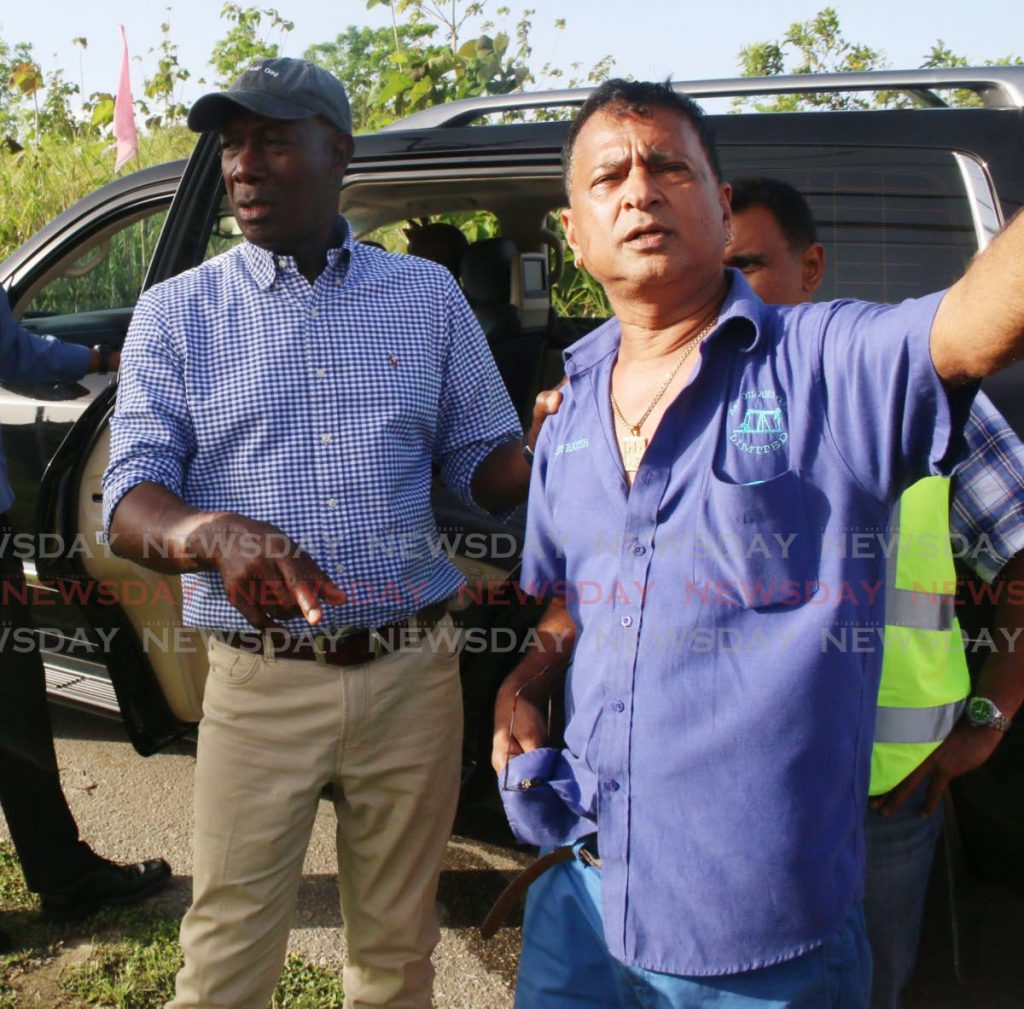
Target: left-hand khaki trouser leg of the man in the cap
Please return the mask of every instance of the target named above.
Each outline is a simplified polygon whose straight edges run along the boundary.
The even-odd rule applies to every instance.
[[[337,747],[336,673],[211,647],[193,905],[181,923],[174,1009],[265,1009],[270,1001]]]

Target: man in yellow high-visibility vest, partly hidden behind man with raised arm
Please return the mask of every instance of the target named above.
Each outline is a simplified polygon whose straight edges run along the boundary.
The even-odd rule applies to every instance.
[[[824,274],[824,249],[804,197],[778,179],[734,179],[725,264],[769,304],[810,301]],[[983,393],[964,434],[969,454],[956,475],[919,481],[895,513],[899,545],[886,585],[864,819],[871,1009],[897,1009],[913,972],[945,787],[988,759],[1024,700],[1024,655],[1007,645],[1024,626],[1024,605],[1009,591],[1024,579],[1024,445]],[[974,574],[994,583],[998,600],[991,631],[1001,647],[988,658],[970,705],[952,605],[956,575],[944,546],[950,537]]]

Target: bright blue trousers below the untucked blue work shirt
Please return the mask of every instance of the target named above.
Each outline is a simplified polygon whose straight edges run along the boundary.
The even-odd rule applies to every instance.
[[[681,977],[620,963],[601,925],[601,873],[561,863],[529,888],[515,1009],[865,1009],[871,957],[857,906],[816,950],[741,974]]]

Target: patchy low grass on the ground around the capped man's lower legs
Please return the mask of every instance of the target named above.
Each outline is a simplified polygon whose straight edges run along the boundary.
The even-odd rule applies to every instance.
[[[181,966],[177,919],[143,906],[111,909],[84,922],[43,921],[13,850],[3,843],[0,921],[19,945],[0,956],[0,1009],[161,1009],[174,994]],[[293,954],[271,1007],[330,1009],[342,1002],[335,971]]]

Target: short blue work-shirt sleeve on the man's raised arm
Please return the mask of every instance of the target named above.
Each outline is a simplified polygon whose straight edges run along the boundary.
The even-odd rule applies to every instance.
[[[966,451],[977,391],[947,388],[932,364],[942,294],[898,305],[833,302],[819,331],[828,432],[865,490],[898,497],[924,476],[949,476]]]

